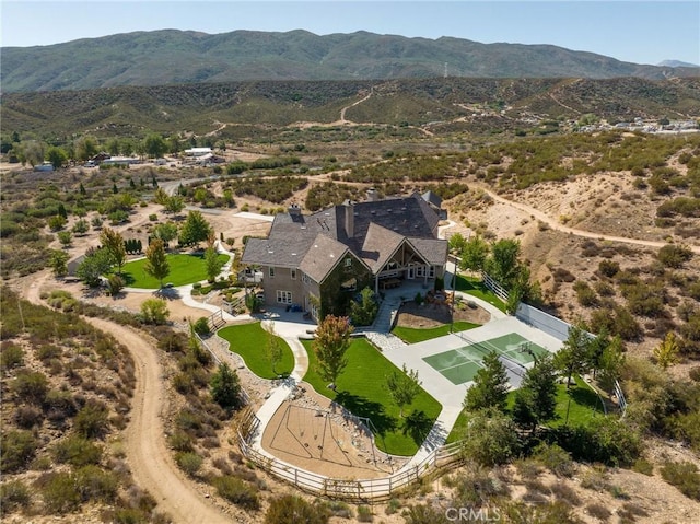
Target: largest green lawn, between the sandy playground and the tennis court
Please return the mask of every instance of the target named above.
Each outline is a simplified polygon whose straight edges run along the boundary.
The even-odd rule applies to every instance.
[[[319,394],[336,400],[350,412],[372,420],[376,446],[393,455],[416,454],[442,410],[438,400],[421,389],[410,406],[398,407],[392,401],[386,376],[399,371],[364,338],[355,338],[348,348],[348,365],[338,377],[336,391],[316,373],[316,356],[311,340],[303,340],[308,353],[308,372],[304,381]],[[420,380],[420,376],[419,376]]]

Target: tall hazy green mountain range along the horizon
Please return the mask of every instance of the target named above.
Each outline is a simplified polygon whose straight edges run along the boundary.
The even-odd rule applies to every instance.
[[[162,30],[0,53],[4,93],[250,80],[700,77],[698,67],[631,63],[552,45],[363,31],[318,36],[301,30],[215,35]]]

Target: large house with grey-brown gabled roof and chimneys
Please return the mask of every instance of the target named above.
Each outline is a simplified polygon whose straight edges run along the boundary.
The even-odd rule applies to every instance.
[[[264,275],[265,303],[308,312],[316,321],[348,313],[365,287],[375,292],[442,278],[447,243],[438,238],[444,218],[432,193],[346,202],[313,214],[298,206],[277,214],[267,238],[249,238],[242,263]]]

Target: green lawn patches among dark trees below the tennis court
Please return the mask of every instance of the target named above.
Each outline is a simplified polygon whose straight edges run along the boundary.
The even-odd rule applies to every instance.
[[[574,376],[576,384],[571,384],[571,388],[567,391],[565,384],[557,385],[557,418],[551,420],[547,426],[558,428],[567,423],[567,409],[569,410],[569,426],[585,426],[594,417],[604,415],[603,403],[598,395],[588,387],[580,376]],[[569,400],[571,399],[571,403]],[[515,403],[515,392],[508,395],[508,407],[511,409]],[[453,427],[447,443],[458,441],[464,433],[464,428],[468,421],[466,411],[462,411],[455,426]]]

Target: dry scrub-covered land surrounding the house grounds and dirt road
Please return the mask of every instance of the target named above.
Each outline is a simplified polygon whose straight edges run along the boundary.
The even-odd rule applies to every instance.
[[[317,128],[305,132],[325,136]],[[628,420],[646,443],[642,456],[622,469],[576,463],[563,450],[544,447],[508,466],[467,463],[385,504],[298,498],[236,451],[234,415],[210,395],[217,368],[186,330],[172,324],[150,328],[150,335],[164,359],[168,445],[192,490],[242,522],[282,523],[280,515],[295,509],[318,515],[317,522],[440,523],[446,509],[459,505],[498,511],[506,515],[504,522],[689,522],[700,513],[700,475],[693,469],[700,464],[697,136],[575,135],[483,148],[463,143],[457,151],[431,147],[425,154],[401,142],[353,144],[354,151],[340,139],[326,145],[293,138],[275,147],[256,143],[247,148],[247,160],[231,154],[223,166],[187,171],[72,168],[40,176],[3,171],[2,276],[13,282],[36,273],[49,266],[50,249],[80,255],[96,244],[103,224],[147,241],[159,224],[179,223],[177,213],[151,201],[154,181],[160,187],[172,181],[186,205],[223,211],[209,217],[217,234],[234,247],[246,235],[265,234],[267,225],[242,229],[228,221],[229,213],[269,214],[292,202],[313,210],[360,199],[371,186],[382,196],[430,189],[450,209],[455,225],[448,231],[521,242],[545,307],[626,340],[631,364],[625,386],[635,406]],[[254,164],[260,155],[275,160]],[[180,187],[179,179],[196,182]],[[49,223],[61,212],[65,223]],[[57,234],[72,231],[81,219],[89,231],[74,231],[72,244],[61,247]],[[148,493],[129,488],[119,446],[133,364],[117,342],[95,335],[74,315],[106,313],[89,313],[60,293],[48,296],[50,312],[27,302],[19,308],[7,290],[3,301],[3,511],[18,522],[63,513],[66,521],[75,515],[104,522],[164,520],[153,513],[156,504]],[[110,315],[114,322],[139,325],[128,313]],[[663,373],[650,356],[668,331],[678,335],[680,363]],[[241,380],[244,387],[253,384],[243,373]]]

